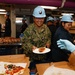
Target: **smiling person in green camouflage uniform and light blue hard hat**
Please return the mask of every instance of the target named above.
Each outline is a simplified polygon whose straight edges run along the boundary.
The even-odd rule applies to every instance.
[[[47,25],[44,24],[46,17],[45,10],[37,6],[33,11],[34,23],[29,25],[24,31],[22,39],[24,53],[30,57],[31,62],[46,62],[46,54],[35,54],[33,50],[40,47],[50,48],[51,44],[51,32]]]

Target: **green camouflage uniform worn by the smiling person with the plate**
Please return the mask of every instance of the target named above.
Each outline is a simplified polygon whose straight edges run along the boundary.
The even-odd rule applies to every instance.
[[[31,60],[44,60],[46,59],[46,54],[34,54],[32,52],[32,46],[39,48],[44,47],[46,43],[51,44],[51,32],[45,24],[40,29],[37,29],[37,26],[33,23],[24,31],[22,42],[24,53]]]

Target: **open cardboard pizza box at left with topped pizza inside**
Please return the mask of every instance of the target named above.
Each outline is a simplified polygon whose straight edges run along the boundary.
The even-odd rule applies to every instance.
[[[26,57],[25,54],[0,56],[0,75],[29,75],[29,63],[29,57]],[[11,72],[10,68],[12,65],[11,71],[14,73],[4,73],[4,71],[8,73],[8,69]]]

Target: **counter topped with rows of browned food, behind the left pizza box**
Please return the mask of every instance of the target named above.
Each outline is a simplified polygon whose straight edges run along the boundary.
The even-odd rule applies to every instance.
[[[4,37],[0,38],[0,55],[21,54],[20,38]],[[8,52],[8,53],[7,53]]]

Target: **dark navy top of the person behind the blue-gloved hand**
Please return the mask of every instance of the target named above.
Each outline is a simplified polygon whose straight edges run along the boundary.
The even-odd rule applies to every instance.
[[[54,35],[54,40],[52,45],[52,59],[55,62],[68,61],[70,52],[68,50],[62,50],[58,48],[57,40],[59,39],[66,39],[73,42],[72,35],[67,30],[65,30],[63,26],[60,26]]]

